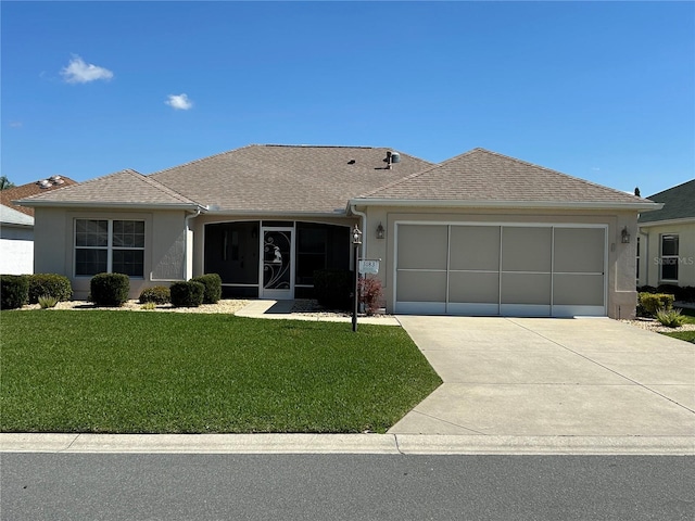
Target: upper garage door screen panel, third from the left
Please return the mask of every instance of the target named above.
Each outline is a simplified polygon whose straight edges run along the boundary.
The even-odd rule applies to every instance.
[[[548,227],[503,227],[502,270],[549,272],[552,240]]]

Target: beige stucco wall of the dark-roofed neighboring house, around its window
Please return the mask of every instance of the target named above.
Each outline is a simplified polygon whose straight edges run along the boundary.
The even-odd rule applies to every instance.
[[[659,285],[660,279],[660,243],[661,236],[677,233],[679,236],[678,285],[695,285],[695,219],[666,224],[645,224],[640,227],[640,285]]]

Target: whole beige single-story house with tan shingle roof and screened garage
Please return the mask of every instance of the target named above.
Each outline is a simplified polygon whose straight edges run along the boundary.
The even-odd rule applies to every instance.
[[[629,317],[637,213],[659,204],[475,149],[440,165],[383,148],[249,145],[21,201],[36,269],[150,285],[217,272],[225,295],[312,295],[313,272],[380,259],[389,313]],[[627,236],[626,236],[627,233]],[[623,240],[623,237],[628,240]]]

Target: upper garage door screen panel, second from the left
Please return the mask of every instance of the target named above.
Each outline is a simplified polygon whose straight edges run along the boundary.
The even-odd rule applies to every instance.
[[[500,269],[500,227],[453,226],[450,269]]]

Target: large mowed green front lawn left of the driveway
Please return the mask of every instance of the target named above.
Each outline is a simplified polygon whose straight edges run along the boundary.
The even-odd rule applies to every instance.
[[[397,327],[0,314],[3,432],[386,432],[441,380]]]

